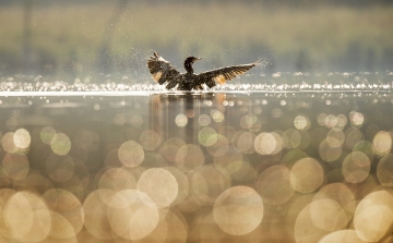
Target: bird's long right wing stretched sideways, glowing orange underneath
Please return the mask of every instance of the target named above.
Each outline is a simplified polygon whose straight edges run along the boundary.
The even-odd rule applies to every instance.
[[[206,84],[210,88],[212,88],[216,84],[225,84],[227,81],[230,81],[238,75],[245,74],[247,71],[259,64],[261,63],[257,61],[250,64],[233,65],[203,72],[198,74],[196,83]]]

